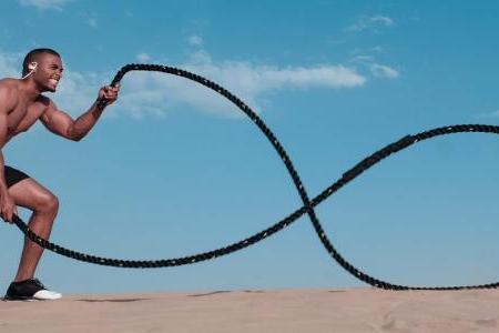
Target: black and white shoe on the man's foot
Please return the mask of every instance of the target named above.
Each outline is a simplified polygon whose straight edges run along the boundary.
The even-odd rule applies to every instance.
[[[7,290],[6,301],[58,300],[62,295],[47,290],[38,279],[12,282]]]

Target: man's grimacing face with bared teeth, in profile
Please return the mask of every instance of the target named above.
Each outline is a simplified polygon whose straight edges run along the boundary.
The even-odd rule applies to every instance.
[[[62,60],[61,58],[42,53],[37,57],[37,69],[33,73],[34,82],[41,88],[41,91],[55,92],[59,80],[62,78]]]

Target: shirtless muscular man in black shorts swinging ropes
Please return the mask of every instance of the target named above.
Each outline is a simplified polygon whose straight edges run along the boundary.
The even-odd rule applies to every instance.
[[[54,134],[80,141],[99,120],[103,108],[99,101],[109,105],[118,98],[119,87],[103,87],[99,90],[96,101],[77,120],[60,111],[42,93],[55,92],[62,78],[61,57],[51,49],[30,51],[22,64],[22,79],[0,80],[0,216],[12,223],[17,205],[33,213],[29,228],[43,239],[49,239],[52,224],[58,213],[59,202],[54,194],[43,188],[26,173],[4,165],[1,149],[10,139],[26,132],[37,120]],[[24,240],[19,269],[10,284],[6,300],[54,300],[60,293],[47,290],[34,279],[34,271],[43,249]]]

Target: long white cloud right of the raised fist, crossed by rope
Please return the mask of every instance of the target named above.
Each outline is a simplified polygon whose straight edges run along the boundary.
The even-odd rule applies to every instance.
[[[203,50],[179,67],[220,83],[255,110],[261,109],[265,94],[271,91],[355,88],[366,82],[361,74],[343,65],[278,68],[235,61],[215,63]],[[125,78],[122,92],[121,101],[134,117],[163,114],[174,104],[186,104],[224,117],[241,114],[236,107],[210,89],[161,73],[132,73],[130,80]]]

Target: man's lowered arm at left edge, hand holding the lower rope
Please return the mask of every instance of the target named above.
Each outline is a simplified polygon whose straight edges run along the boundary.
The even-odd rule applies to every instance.
[[[12,214],[17,214],[18,210],[7,189],[2,149],[7,143],[7,115],[13,104],[10,90],[0,85],[0,216],[9,222],[12,221]]]

